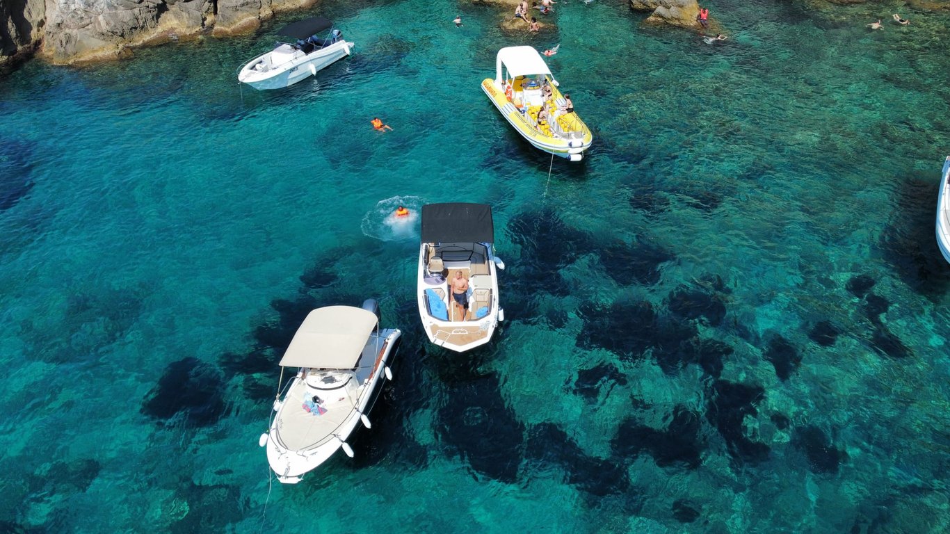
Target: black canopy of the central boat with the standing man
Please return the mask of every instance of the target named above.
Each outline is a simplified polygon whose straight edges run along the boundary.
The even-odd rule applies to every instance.
[[[424,243],[495,241],[495,225],[491,206],[449,202],[422,207],[422,241]]]

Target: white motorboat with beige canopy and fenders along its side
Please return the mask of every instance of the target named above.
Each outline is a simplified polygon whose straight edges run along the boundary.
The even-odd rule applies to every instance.
[[[284,368],[299,368],[274,402],[270,429],[260,436],[267,460],[284,484],[300,482],[304,473],[319,467],[343,448],[363,425],[386,380],[398,329],[379,328],[379,307],[367,299],[362,308],[317,308],[304,319],[280,360]]]

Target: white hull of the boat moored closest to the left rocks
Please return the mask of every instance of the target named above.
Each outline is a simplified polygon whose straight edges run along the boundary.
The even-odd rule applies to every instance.
[[[329,67],[336,61],[343,59],[352,52],[352,43],[339,41],[325,48],[320,48],[309,54],[299,53],[298,56],[269,67],[267,70],[257,70],[258,65],[271,65],[270,60],[275,57],[272,50],[261,54],[241,67],[237,80],[257,90],[280,89],[293,86],[297,82],[313,76],[323,68]]]

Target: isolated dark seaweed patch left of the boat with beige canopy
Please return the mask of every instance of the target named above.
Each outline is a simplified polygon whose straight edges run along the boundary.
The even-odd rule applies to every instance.
[[[183,413],[188,422],[204,427],[218,421],[224,412],[220,374],[194,357],[172,362],[158,385],[148,392],[142,413],[156,419],[170,419]]]

